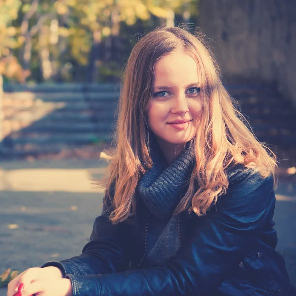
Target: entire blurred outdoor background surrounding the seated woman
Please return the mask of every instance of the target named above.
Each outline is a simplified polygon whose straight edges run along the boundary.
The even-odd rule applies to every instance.
[[[81,252],[101,213],[94,180],[131,49],[183,25],[205,34],[225,87],[278,156],[277,250],[296,286],[295,11],[295,0],[0,0],[0,273]]]

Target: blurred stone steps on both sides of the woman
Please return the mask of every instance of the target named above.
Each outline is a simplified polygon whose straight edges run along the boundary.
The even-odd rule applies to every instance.
[[[296,147],[296,110],[273,85],[227,86],[257,138],[277,152]],[[2,157],[54,154],[111,141],[120,85],[4,88]],[[281,152],[280,152],[281,153]]]

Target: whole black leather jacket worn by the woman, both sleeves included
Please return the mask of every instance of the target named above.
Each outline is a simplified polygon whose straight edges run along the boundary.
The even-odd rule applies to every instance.
[[[74,296],[296,296],[275,251],[274,208],[272,176],[232,169],[209,214],[181,213],[182,247],[165,264],[145,263],[145,207],[137,223],[112,225],[105,206],[80,256],[42,267],[59,267]]]

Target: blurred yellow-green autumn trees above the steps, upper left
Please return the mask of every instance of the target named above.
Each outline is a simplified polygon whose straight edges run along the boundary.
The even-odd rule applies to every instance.
[[[185,10],[197,15],[197,0],[0,0],[0,73],[16,81],[86,81],[91,71],[94,81],[118,79],[131,32],[172,12],[182,19]]]

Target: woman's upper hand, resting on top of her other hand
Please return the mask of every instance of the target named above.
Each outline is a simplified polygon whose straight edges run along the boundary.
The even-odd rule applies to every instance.
[[[7,296],[13,296],[15,293],[18,292],[18,287],[21,283],[24,284],[23,291],[26,293],[26,291],[29,289],[29,286],[36,282],[57,282],[57,280],[62,279],[62,272],[59,268],[48,266],[44,268],[34,267],[29,268],[19,274],[16,278],[14,278],[9,284],[8,284],[8,291]],[[66,279],[65,279],[66,280]],[[67,281],[63,281],[62,283],[65,283]],[[40,284],[40,283],[39,283]],[[46,285],[46,283],[44,283]],[[42,290],[42,289],[41,289]],[[24,293],[22,293],[24,296]],[[28,294],[30,295],[30,294]]]

